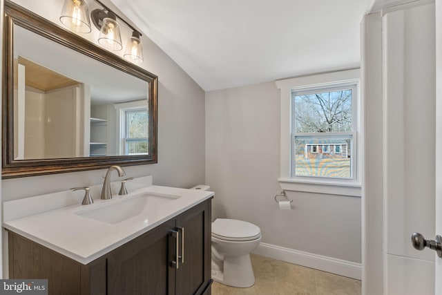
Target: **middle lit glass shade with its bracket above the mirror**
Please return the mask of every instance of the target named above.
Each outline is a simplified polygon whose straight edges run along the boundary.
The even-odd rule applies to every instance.
[[[122,35],[119,32],[117,15],[111,10],[95,9],[92,14],[92,22],[99,29],[98,43],[110,50],[122,50]]]

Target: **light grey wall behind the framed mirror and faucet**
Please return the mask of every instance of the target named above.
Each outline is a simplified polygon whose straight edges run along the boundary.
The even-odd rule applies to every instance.
[[[57,21],[63,1],[15,1]],[[60,23],[61,24],[61,23]],[[57,23],[58,25],[58,23]],[[143,68],[158,78],[158,163],[125,167],[126,175],[153,175],[154,184],[192,187],[204,183],[204,91],[145,35]],[[2,180],[3,201],[99,184],[104,170]],[[115,175],[113,176],[115,178]],[[3,249],[5,245],[3,245]],[[3,267],[6,265],[3,263]]]

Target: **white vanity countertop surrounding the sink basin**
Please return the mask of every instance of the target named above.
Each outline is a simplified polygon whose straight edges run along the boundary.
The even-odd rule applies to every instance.
[[[140,196],[141,193],[179,198],[155,207],[155,210],[146,207],[137,216],[116,224],[75,214],[78,211],[107,206],[110,202],[123,202]],[[5,218],[3,227],[86,265],[212,196],[211,191],[151,185],[133,189],[126,196],[113,196],[111,200],[94,200],[94,204],[90,205],[81,205],[79,202],[12,220]],[[4,202],[3,210],[6,210],[5,207],[12,210],[14,206],[17,208],[21,204],[26,204],[26,199]],[[28,202],[28,206],[32,204]]]

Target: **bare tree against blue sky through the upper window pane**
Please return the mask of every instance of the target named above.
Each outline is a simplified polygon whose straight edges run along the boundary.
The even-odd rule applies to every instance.
[[[352,89],[296,95],[295,132],[352,131]]]

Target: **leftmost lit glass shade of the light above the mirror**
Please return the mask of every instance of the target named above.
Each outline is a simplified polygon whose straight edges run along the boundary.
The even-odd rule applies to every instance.
[[[73,32],[90,32],[89,10],[86,1],[65,0],[60,21]]]

